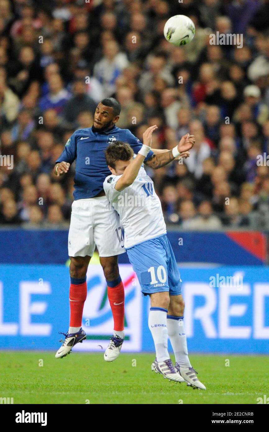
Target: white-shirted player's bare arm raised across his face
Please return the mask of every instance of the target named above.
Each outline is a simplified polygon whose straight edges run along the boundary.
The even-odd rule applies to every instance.
[[[123,191],[125,187],[130,186],[136,179],[139,169],[141,168],[142,163],[144,162],[146,156],[149,153],[149,150],[151,149],[152,145],[152,132],[157,129],[156,124],[154,126],[149,127],[144,133],[143,133],[143,145],[142,148],[137,153],[137,156],[135,159],[132,160],[132,162],[127,165],[125,168],[123,175],[119,178],[115,185],[116,191]]]

